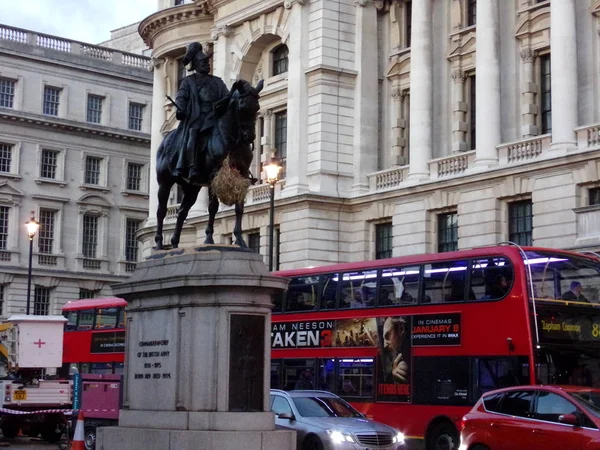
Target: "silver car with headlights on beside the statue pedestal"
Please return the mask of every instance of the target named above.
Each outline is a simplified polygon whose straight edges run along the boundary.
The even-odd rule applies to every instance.
[[[271,389],[278,428],[296,430],[297,450],[403,450],[404,435],[367,419],[327,391]]]

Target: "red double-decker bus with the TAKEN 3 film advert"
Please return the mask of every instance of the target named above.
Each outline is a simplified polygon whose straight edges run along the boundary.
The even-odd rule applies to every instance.
[[[278,272],[271,387],[325,389],[428,450],[482,393],[600,385],[600,259],[506,244]],[[413,446],[411,445],[411,447]]]

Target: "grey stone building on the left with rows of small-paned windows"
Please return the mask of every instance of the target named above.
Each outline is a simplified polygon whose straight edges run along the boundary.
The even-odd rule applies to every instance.
[[[60,314],[135,268],[148,216],[149,58],[0,25],[0,316]]]

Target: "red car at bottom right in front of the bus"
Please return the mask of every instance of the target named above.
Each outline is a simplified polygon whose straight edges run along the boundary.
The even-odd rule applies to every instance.
[[[463,417],[459,450],[523,449],[600,449],[600,389],[498,389]]]

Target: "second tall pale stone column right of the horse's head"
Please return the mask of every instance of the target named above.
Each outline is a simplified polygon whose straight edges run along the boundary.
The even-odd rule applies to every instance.
[[[377,171],[378,148],[378,62],[377,9],[371,1],[355,0],[356,89],[354,96],[354,181],[355,191],[369,190],[367,175]]]

